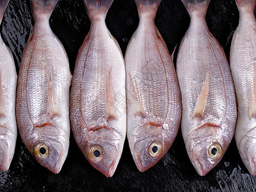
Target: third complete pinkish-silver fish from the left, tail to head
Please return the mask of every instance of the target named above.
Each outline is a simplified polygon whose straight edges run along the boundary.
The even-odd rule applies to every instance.
[[[125,53],[127,138],[138,170],[154,166],[171,147],[181,118],[172,58],[154,19],[161,0],[135,0],[138,29]]]

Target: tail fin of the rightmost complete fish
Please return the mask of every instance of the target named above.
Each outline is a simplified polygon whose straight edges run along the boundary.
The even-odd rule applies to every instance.
[[[189,15],[194,11],[202,12],[202,15],[206,15],[208,5],[211,0],[181,0]]]

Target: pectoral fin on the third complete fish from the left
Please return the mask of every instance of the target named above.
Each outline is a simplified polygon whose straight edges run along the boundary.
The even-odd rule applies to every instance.
[[[141,117],[145,117],[144,116],[144,109],[143,109],[143,102],[142,102],[142,98],[141,98],[141,94],[138,90],[138,84],[136,82],[136,79],[134,78],[134,81],[132,79],[131,74],[128,72],[128,76],[130,78],[130,84],[131,84],[131,94],[132,94],[132,110],[133,110],[133,114],[134,116],[141,116]]]

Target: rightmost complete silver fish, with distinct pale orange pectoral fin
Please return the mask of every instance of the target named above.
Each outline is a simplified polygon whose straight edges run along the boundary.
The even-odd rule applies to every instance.
[[[209,0],[182,0],[191,22],[177,56],[182,136],[199,175],[225,154],[236,126],[236,96],[227,58],[205,15]]]

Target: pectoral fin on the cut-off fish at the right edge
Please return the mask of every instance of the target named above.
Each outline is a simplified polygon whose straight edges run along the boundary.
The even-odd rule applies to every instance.
[[[250,100],[249,100],[249,118],[256,117],[256,67],[253,65],[253,91],[249,84]]]

